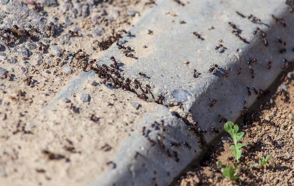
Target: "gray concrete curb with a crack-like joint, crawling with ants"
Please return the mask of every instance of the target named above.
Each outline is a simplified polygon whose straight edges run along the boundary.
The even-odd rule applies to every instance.
[[[260,24],[254,24],[248,18],[238,16],[235,11],[245,15],[254,14],[262,20]],[[171,16],[172,12],[176,16]],[[272,14],[283,17],[287,23],[284,27],[276,23]],[[171,21],[173,20],[173,21]],[[181,24],[185,21],[185,24]],[[247,43],[240,40],[232,33],[228,22],[237,25],[241,36],[246,38]],[[214,29],[208,30],[208,28]],[[268,46],[263,44],[262,36],[253,35],[253,30],[259,27],[267,36]],[[147,30],[153,31],[147,34]],[[217,115],[220,113],[230,121],[235,121],[243,110],[243,100],[247,100],[248,107],[252,105],[258,95],[251,91],[248,95],[247,86],[257,90],[266,89],[283,71],[281,69],[283,59],[292,60],[294,52],[293,15],[283,1],[191,1],[185,6],[176,4],[174,1],[159,0],[157,6],[142,16],[130,31],[136,37],[127,37],[128,42],[134,48],[133,54],[136,59],[127,58],[118,53],[116,45],[111,46],[99,60],[101,63],[111,64],[106,56],[114,56],[121,60],[123,72],[127,77],[140,78],[139,72],[147,74],[148,84],[152,88],[154,97],[164,95],[166,103],[170,104],[170,110],[159,106],[158,110],[147,113],[142,122],[131,133],[127,140],[121,141],[120,148],[116,151],[116,169],[109,169],[103,175],[97,175],[97,181],[91,185],[151,185],[156,181],[158,185],[168,185],[178,173],[183,170],[193,159],[197,159],[202,152],[197,137],[187,130],[186,124],[179,120],[171,110],[177,110],[174,102],[176,93],[186,94],[183,104],[186,110],[191,109],[191,115],[198,121],[200,129],[209,129],[219,126]],[[203,40],[198,39],[193,32],[197,31]],[[287,42],[281,45],[276,38]],[[220,43],[226,47],[224,52],[216,51],[215,47]],[[146,45],[144,48],[142,45]],[[283,54],[279,50],[285,48]],[[135,53],[136,52],[136,53]],[[257,59],[251,67],[254,69],[255,78],[251,78],[248,58]],[[183,64],[188,60],[188,64]],[[267,68],[271,61],[271,68]],[[216,73],[206,73],[209,66],[218,64],[221,66]],[[238,75],[238,68],[242,68]],[[193,69],[199,74],[193,77]],[[224,79],[225,72],[228,77]],[[54,107],[57,100],[69,96],[68,90],[74,87],[78,91],[79,82],[85,81],[86,73],[79,74],[57,97],[49,103],[46,109]],[[98,79],[98,77],[96,77]],[[98,81],[97,81],[98,82]],[[141,81],[142,84],[147,83]],[[178,91],[175,91],[178,90]],[[141,94],[140,91],[138,93]],[[216,99],[215,106],[210,107],[210,99]],[[184,116],[185,113],[181,113]],[[151,127],[154,121],[164,119],[166,131],[155,130]],[[142,127],[146,126],[148,134],[142,135]],[[158,137],[158,132],[164,136]],[[155,141],[161,138],[162,143],[168,146],[171,142],[187,141],[191,150],[183,144],[181,147],[170,147],[171,156],[158,142],[151,146],[146,136]],[[216,137],[216,136],[214,136]],[[213,135],[204,135],[206,143],[213,140]],[[205,149],[205,147],[203,148]],[[179,161],[173,151],[177,152]],[[139,154],[134,158],[134,154]],[[98,155],[97,155],[98,156]]]

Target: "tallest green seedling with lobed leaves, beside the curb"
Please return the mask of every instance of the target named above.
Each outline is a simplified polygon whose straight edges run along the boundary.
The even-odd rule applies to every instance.
[[[225,131],[231,134],[235,144],[230,146],[229,149],[233,150],[233,155],[235,156],[236,160],[239,161],[239,158],[241,157],[241,154],[242,154],[242,151],[240,150],[240,148],[245,146],[245,144],[238,143],[238,141],[244,136],[244,132],[237,133],[239,130],[239,127],[238,125],[234,125],[233,122],[226,122],[224,128],[225,128]]]

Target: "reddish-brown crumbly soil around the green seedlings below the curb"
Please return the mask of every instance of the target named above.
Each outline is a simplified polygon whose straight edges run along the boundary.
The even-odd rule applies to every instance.
[[[221,161],[232,166],[234,162],[233,150],[229,149],[233,143],[228,141],[229,139],[218,138],[211,144],[211,149],[203,159],[192,163],[187,168],[187,172],[177,178],[172,185],[293,185],[293,73],[294,71],[288,74],[291,79],[283,78],[283,74],[281,76],[283,80],[278,79],[273,83],[270,92],[248,110],[250,116],[252,113],[255,114],[252,124],[244,124],[246,121],[243,121],[243,117],[237,122],[239,132],[245,132],[240,141],[246,144],[241,148],[242,168],[238,180],[230,181],[228,178],[223,178],[222,169],[214,164]],[[279,95],[281,88],[283,92]],[[254,96],[253,91],[252,93]],[[220,127],[223,127],[223,124],[219,125]],[[214,134],[208,132],[208,135]],[[225,132],[223,136],[230,137],[230,134]],[[249,165],[258,163],[258,158],[269,154],[271,157],[266,165],[243,170]]]

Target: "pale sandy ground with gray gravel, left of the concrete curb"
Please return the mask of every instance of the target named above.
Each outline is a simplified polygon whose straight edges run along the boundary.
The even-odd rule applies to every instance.
[[[104,41],[105,46],[112,29],[127,40],[121,30],[128,30],[154,6],[146,2],[0,4],[2,37],[7,38],[3,31],[15,24],[21,31],[15,41],[4,38],[0,43],[0,185],[86,185],[115,168],[112,149],[143,114],[156,108],[155,103],[126,90],[109,89],[93,72],[84,72],[89,73],[79,85],[84,92],[70,92],[70,98],[59,100],[52,109],[48,103],[82,72],[83,61],[103,54],[98,43]],[[79,49],[82,52],[76,55],[85,55],[86,60],[66,57]],[[62,50],[66,52],[59,57]],[[66,67],[71,70],[66,72]]]

